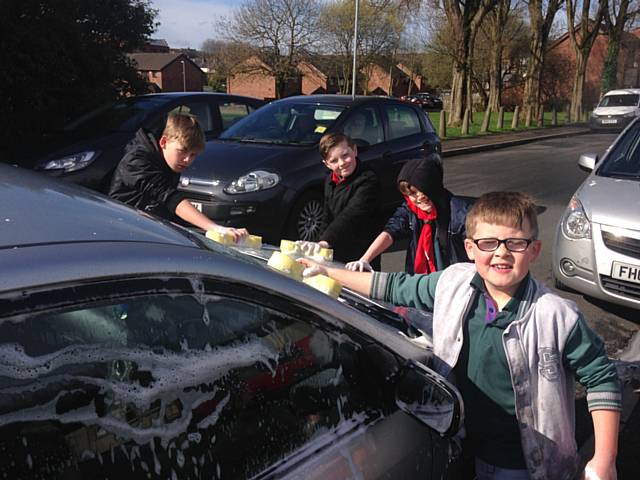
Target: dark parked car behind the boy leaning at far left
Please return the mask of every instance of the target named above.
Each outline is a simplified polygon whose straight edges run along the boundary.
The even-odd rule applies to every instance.
[[[126,98],[48,135],[30,163],[36,170],[106,193],[125,146],[139,128],[160,137],[167,115],[185,112],[197,116],[207,139],[212,139],[263,104],[256,98],[206,92]]]

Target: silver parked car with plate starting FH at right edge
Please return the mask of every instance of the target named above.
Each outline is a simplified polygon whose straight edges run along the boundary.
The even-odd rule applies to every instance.
[[[601,160],[586,154],[578,165],[591,174],[558,225],[556,286],[640,309],[640,120],[629,125]]]

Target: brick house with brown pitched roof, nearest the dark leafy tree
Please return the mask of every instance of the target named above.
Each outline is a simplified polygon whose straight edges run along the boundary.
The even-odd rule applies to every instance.
[[[204,72],[183,53],[131,53],[138,72],[158,92],[201,92]]]

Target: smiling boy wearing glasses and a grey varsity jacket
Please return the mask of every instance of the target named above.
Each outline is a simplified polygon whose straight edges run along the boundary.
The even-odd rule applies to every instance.
[[[455,376],[479,480],[575,477],[574,378],[587,390],[594,424],[595,453],[585,471],[615,479],[616,370],[577,306],[529,274],[541,249],[533,201],[517,192],[485,194],[469,211],[466,231],[474,263],[430,275],[300,261],[312,267],[308,274],[326,273],[373,298],[433,311],[432,366]]]

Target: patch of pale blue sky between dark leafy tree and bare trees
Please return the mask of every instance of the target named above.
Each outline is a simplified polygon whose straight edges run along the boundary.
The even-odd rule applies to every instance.
[[[163,38],[171,48],[196,48],[208,38],[219,38],[217,21],[230,16],[241,0],[152,0],[159,10],[160,26],[153,38]]]

